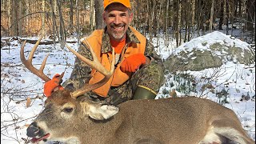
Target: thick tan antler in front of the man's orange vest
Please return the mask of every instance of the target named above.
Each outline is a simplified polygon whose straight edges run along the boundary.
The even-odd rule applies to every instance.
[[[85,39],[85,42],[86,42],[86,45],[90,49],[90,54],[93,57],[93,61],[90,61],[89,59],[83,57],[81,54],[78,54],[78,52],[73,50],[70,46],[66,45],[66,47],[74,55],[76,55],[82,62],[86,62],[86,64],[88,66],[90,66],[91,68],[93,68],[93,69],[97,70],[98,72],[100,72],[101,74],[103,74],[105,76],[105,78],[103,78],[101,81],[99,81],[97,83],[94,83],[92,85],[86,84],[81,89],[75,90],[74,92],[71,93],[72,98],[77,98],[79,95],[85,94],[87,91],[94,90],[100,86],[103,86],[110,79],[112,74],[114,73],[114,48],[112,50],[113,57],[112,57],[111,69],[110,69],[110,71],[108,71],[108,70],[106,70],[106,68],[104,66],[102,66],[101,62],[98,61],[98,58],[97,58],[96,54],[94,53],[94,50],[92,50],[92,47],[90,46],[89,42],[87,42],[86,39]]]

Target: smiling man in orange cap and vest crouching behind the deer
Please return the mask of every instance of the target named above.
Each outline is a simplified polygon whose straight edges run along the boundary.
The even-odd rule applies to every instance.
[[[130,99],[155,98],[163,82],[162,59],[154,46],[137,30],[130,26],[133,19],[129,0],[104,0],[104,30],[94,30],[88,38],[94,52],[103,66],[110,66],[112,47],[115,52],[114,76],[105,85],[86,93],[93,100],[102,100],[118,105]],[[78,53],[91,59],[84,39]],[[58,74],[46,82],[44,93],[50,96],[58,89],[77,90],[85,83],[93,84],[102,79],[102,74],[91,70],[76,58],[70,79],[62,86],[56,84]],[[58,82],[57,82],[58,83]]]

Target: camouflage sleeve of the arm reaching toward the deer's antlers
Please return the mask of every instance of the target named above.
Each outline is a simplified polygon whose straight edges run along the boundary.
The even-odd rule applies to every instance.
[[[92,59],[90,51],[86,48],[84,44],[80,44],[78,48],[78,53],[82,56]],[[78,90],[90,80],[90,66],[85,62],[82,62],[79,58],[75,58],[74,69],[70,75],[70,78],[63,82],[62,86],[67,90]]]

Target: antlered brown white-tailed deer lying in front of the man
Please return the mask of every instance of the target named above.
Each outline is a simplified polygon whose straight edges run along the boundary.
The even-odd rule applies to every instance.
[[[38,43],[41,38],[38,39]],[[21,49],[23,64],[38,77],[49,81],[43,67],[37,70],[31,61],[34,46],[28,60]],[[90,47],[90,46],[89,46]],[[70,47],[68,47],[70,49]],[[102,86],[114,71],[110,72],[98,62],[78,58],[106,77],[81,90],[57,90],[45,102],[45,110],[27,128],[32,142],[61,141],[82,144],[253,144],[234,112],[207,99],[165,98],[158,100],[130,100],[118,106],[103,105],[81,96],[89,90]],[[113,53],[114,55],[114,53]],[[114,59],[114,58],[113,58]],[[113,62],[114,63],[114,62]],[[80,96],[80,97],[79,97]],[[42,141],[43,140],[43,141]]]

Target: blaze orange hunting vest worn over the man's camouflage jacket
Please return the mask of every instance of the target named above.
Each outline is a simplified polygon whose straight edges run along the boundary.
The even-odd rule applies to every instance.
[[[134,43],[130,42],[128,43],[128,46],[126,44],[125,48],[125,53],[122,54],[122,61],[129,57],[130,55],[133,54],[144,54],[145,48],[146,48],[146,38],[140,34],[137,30],[132,28],[130,26],[130,30],[135,34],[135,36],[138,38],[140,43]],[[112,62],[112,53],[102,53],[102,34],[104,33],[104,30],[94,30],[92,34],[86,40],[90,43],[90,46],[93,48],[94,53],[96,54],[99,62],[102,63],[102,65],[106,68],[106,70],[110,70],[111,62]],[[82,41],[84,44],[86,42]],[[106,84],[103,86],[99,87],[98,89],[93,90],[95,94],[98,94],[102,97],[106,97],[109,90],[110,86],[121,86],[124,82],[126,82],[132,73],[123,73],[122,70],[120,69],[120,64],[122,63],[119,62],[118,66],[116,66],[114,70],[113,76],[109,79]],[[91,71],[91,77],[89,84],[94,84],[96,82],[99,82],[104,78],[102,74],[100,74],[96,70]]]

